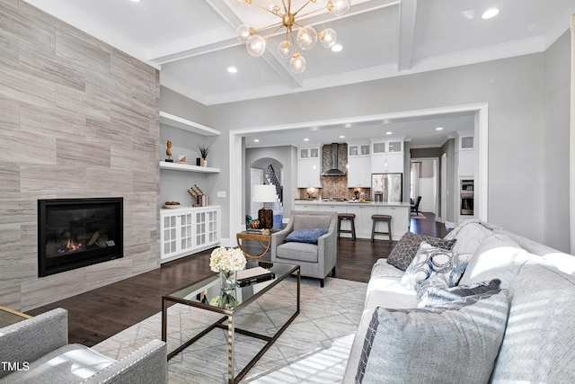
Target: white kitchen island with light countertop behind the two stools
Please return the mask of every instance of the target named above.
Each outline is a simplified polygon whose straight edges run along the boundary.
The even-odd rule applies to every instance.
[[[355,213],[356,237],[371,238],[371,215],[389,215],[392,217],[392,239],[399,240],[410,227],[411,204],[409,202],[375,202],[375,201],[319,201],[295,200],[293,210],[326,210],[338,213]],[[387,231],[385,223],[377,223],[377,231]],[[385,227],[379,227],[385,226]],[[341,229],[350,229],[348,220],[343,220]],[[341,237],[351,237],[341,234]],[[376,236],[376,239],[387,237]]]

